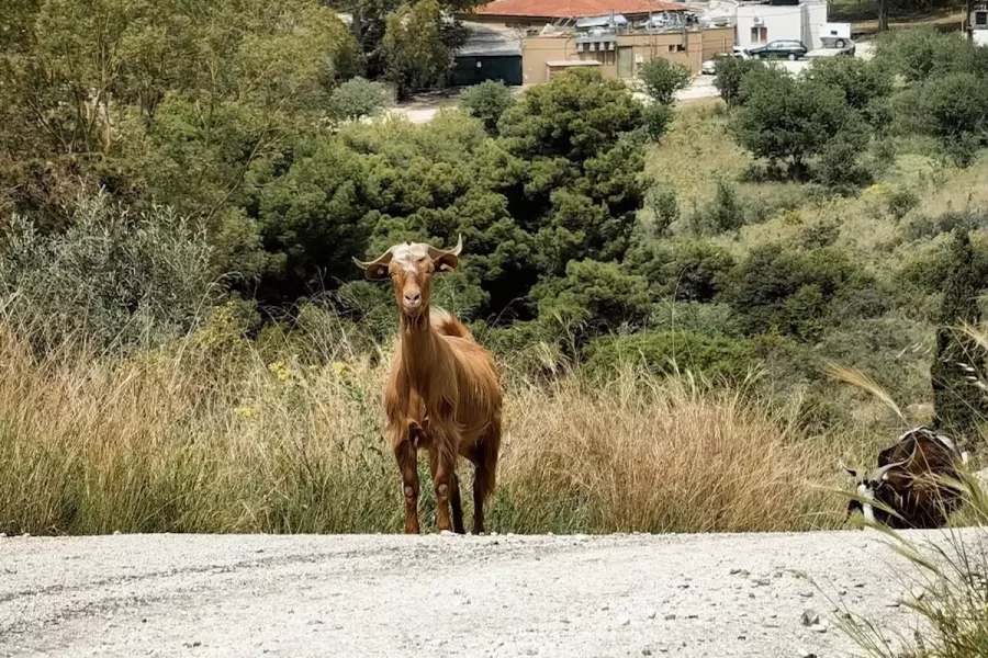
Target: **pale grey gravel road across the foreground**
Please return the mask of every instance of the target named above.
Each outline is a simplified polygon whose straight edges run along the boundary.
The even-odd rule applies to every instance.
[[[0,538],[0,656],[823,658],[854,649],[831,597],[914,625],[899,559],[874,531]]]

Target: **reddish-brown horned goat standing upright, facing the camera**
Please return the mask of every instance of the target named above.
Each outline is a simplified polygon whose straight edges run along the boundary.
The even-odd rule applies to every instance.
[[[463,248],[395,245],[370,262],[353,261],[372,281],[391,279],[401,333],[384,394],[385,433],[402,475],[405,532],[418,533],[418,449],[429,453],[439,531],[463,533],[457,457],[474,466],[473,532],[484,532],[501,450],[502,390],[490,352],[448,313],[430,311],[433,275],[453,271]]]

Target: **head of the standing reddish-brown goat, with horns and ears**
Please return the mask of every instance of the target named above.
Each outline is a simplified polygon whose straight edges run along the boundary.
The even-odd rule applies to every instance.
[[[353,262],[371,281],[391,279],[402,315],[415,319],[429,308],[433,275],[456,270],[462,249],[462,236],[456,247],[447,250],[425,242],[406,242],[393,246],[377,260],[363,262],[355,258]]]

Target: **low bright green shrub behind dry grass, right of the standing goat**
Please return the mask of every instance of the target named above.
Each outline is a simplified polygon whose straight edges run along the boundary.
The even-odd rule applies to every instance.
[[[756,366],[745,341],[692,331],[598,338],[587,345],[585,355],[585,371],[599,378],[635,364],[658,375],[691,371],[711,378],[740,381]]]

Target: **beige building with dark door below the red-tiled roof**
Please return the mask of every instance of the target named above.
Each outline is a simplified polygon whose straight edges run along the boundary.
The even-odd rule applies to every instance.
[[[568,68],[597,68],[605,78],[630,79],[641,67],[663,57],[698,72],[716,53],[730,53],[733,27],[595,36],[532,36],[521,43],[524,84],[547,82]]]

